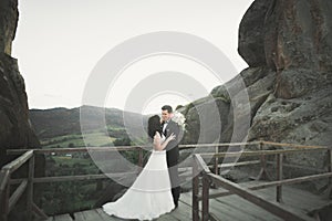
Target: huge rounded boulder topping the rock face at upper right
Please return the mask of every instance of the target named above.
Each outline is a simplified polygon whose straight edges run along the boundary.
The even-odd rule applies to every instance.
[[[256,0],[242,18],[239,54],[250,67],[331,71],[329,0]]]

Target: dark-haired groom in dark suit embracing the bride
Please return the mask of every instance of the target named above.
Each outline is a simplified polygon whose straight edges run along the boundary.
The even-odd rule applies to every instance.
[[[163,134],[167,138],[172,134],[176,135],[176,139],[168,143],[166,146],[166,159],[167,159],[167,167],[169,172],[169,179],[172,185],[172,196],[174,200],[175,208],[178,207],[178,198],[180,194],[180,187],[179,187],[179,177],[178,177],[178,135],[179,135],[179,126],[172,120],[173,109],[169,105],[164,105],[162,107],[162,129]]]

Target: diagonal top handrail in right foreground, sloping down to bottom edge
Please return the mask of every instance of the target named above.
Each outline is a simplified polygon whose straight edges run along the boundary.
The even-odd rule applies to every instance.
[[[248,191],[248,189],[245,189],[240,187],[237,183],[232,183],[231,181],[216,176],[214,173],[209,173],[214,182],[218,182],[221,187],[228,189],[229,191],[236,193],[237,196],[243,198],[245,200],[248,200],[249,202],[252,202],[257,204],[260,208],[263,208],[264,210],[271,212],[272,214],[276,214],[277,217],[284,219],[284,220],[293,220],[293,221],[303,221],[303,220],[310,220],[308,217],[300,217],[300,214],[294,214],[293,212],[289,211],[288,209],[283,208],[280,204],[277,204],[274,202],[269,202],[264,200],[260,196],[256,196]]]

